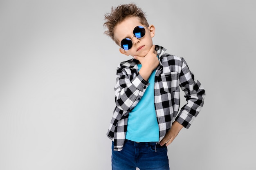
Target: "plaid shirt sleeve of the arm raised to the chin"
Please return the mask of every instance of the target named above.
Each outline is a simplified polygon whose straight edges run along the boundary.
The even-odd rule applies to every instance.
[[[149,83],[139,73],[132,73],[130,68],[122,68],[120,64],[117,68],[116,81],[116,106],[127,113],[137,105]]]

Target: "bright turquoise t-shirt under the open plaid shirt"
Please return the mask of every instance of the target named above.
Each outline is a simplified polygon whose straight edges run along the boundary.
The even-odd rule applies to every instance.
[[[141,68],[141,64],[138,64],[138,68]],[[150,84],[144,95],[129,113],[126,139],[131,141],[159,141],[159,127],[154,102],[155,70],[151,73],[148,82]]]

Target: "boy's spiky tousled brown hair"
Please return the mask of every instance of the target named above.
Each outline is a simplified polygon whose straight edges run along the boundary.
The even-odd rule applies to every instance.
[[[118,44],[117,40],[114,38],[115,27],[117,24],[130,17],[137,17],[139,18],[141,24],[148,26],[145,13],[140,8],[138,8],[136,4],[122,4],[117,7],[112,7],[111,13],[105,14],[106,22],[103,24],[103,26],[107,27],[108,30],[104,33],[110,36],[110,38]]]

